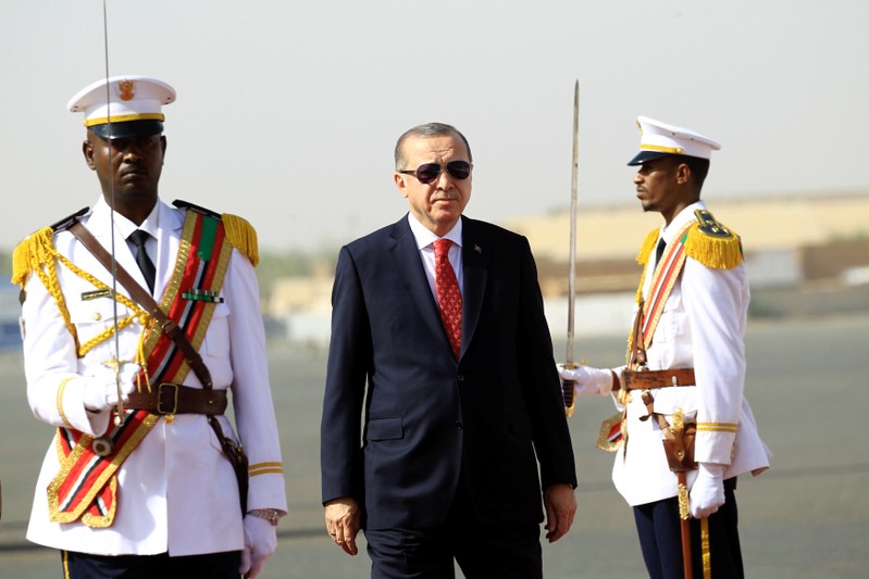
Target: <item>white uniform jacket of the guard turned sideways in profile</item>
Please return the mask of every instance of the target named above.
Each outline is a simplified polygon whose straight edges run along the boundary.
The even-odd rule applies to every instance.
[[[685,207],[661,229],[668,246],[691,221],[703,202]],[[649,257],[644,298],[648,298],[655,256]],[[696,386],[659,388],[655,412],[668,421],[682,408],[696,417],[697,462],[728,465],[724,478],[744,473],[759,474],[769,467],[771,454],[760,440],[752,408],[743,397],[745,386],[745,325],[749,290],[745,264],[718,269],[687,257],[665,305],[651,345],[646,352],[648,369],[694,368]],[[661,442],[661,430],[647,414],[640,392],[628,393],[628,439],[616,456],[612,480],[632,506],[676,495],[676,476],[671,473]],[[621,406],[617,402],[617,406]],[[688,473],[688,487],[697,471]]]

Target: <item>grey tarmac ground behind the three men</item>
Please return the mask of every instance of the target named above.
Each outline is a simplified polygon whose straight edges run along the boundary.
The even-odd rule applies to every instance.
[[[868,339],[869,313],[749,325],[746,394],[775,456],[766,474],[740,479],[748,577],[867,577],[869,452],[859,441],[869,385],[859,364],[869,360]],[[624,349],[623,337],[604,337],[578,340],[575,351],[589,364],[614,366]],[[561,353],[563,345],[557,344],[556,355]],[[368,577],[364,552],[345,555],[323,526],[319,432],[325,353],[272,343],[270,358],[289,516],[278,527],[277,553],[260,577]],[[607,398],[583,398],[570,418],[580,507],[571,532],[544,543],[547,578],[646,576],[633,517],[609,479],[612,455],[594,448],[600,420],[612,413]],[[24,538],[52,431],[27,406],[18,352],[0,354],[0,577],[61,577],[58,553]]]

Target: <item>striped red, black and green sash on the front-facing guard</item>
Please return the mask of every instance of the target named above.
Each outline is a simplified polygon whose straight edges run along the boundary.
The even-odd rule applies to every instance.
[[[183,329],[196,350],[221,301],[219,295],[232,250],[219,218],[187,211],[175,270],[160,307]],[[182,383],[190,369],[184,354],[159,327],[145,331],[142,349],[148,372],[140,374],[141,388],[151,385],[156,388],[161,382]],[[148,411],[125,411],[121,425],[111,426],[102,437],[113,444],[107,456],[94,452],[94,437],[59,428],[60,471],[48,487],[51,520],[73,523],[80,518],[89,527],[111,526],[116,511],[117,468],[159,419],[159,415]]]

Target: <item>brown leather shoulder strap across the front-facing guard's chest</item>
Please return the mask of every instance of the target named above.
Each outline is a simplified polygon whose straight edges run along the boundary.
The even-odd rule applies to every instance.
[[[139,305],[145,307],[145,311],[148,312],[157,323],[160,324],[160,329],[169,336],[175,345],[184,354],[184,357],[190,364],[190,368],[193,368],[196,376],[199,378],[199,381],[202,382],[202,388],[211,389],[213,383],[211,381],[211,373],[208,370],[208,366],[206,363],[202,362],[202,356],[199,355],[199,352],[187,341],[187,338],[184,337],[184,331],[178,327],[178,325],[169,317],[163,311],[160,309],[160,304],[158,304],[151,294],[148,291],[139,286],[133,276],[124,269],[121,264],[116,261],[112,260],[112,256],[105,251],[97,238],[94,237],[85,225],[79,222],[75,221],[75,223],[70,226],[70,232],[75,236],[75,238],[82,242],[82,244],[94,254],[97,260],[102,264],[105,269],[109,272],[113,272],[115,279],[117,279],[119,284],[121,284],[124,289],[129,292],[129,297],[133,298]]]

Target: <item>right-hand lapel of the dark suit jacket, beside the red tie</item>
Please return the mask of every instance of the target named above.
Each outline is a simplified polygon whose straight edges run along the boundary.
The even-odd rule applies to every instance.
[[[485,240],[480,237],[472,219],[462,216],[462,320],[461,352],[464,355],[474,337],[480,313],[483,310],[483,295],[486,292],[488,259]]]

